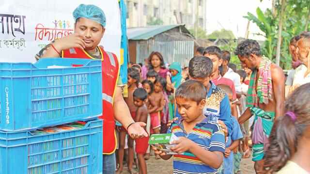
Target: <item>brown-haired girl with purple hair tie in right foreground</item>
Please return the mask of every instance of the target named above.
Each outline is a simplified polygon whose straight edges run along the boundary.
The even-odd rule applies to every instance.
[[[298,87],[276,119],[265,154],[264,173],[310,174],[310,83]]]

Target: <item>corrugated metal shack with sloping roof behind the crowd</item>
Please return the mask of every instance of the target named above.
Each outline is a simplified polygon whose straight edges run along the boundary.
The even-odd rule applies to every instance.
[[[194,55],[195,38],[184,24],[128,28],[127,36],[132,63],[143,63],[152,51],[158,51],[165,63],[187,66]]]

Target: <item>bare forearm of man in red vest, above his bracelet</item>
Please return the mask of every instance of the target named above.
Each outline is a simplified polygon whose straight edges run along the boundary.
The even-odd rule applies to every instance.
[[[115,101],[113,104],[113,110],[115,119],[119,121],[123,127],[127,128],[129,124],[134,123],[124,99]]]

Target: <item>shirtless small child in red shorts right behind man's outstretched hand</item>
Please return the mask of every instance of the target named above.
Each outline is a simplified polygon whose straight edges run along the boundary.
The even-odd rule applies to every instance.
[[[145,105],[147,100],[147,92],[143,88],[137,88],[133,93],[134,104],[137,107],[135,122],[143,122],[147,124],[148,111]],[[136,153],[139,160],[139,174],[147,174],[146,162],[144,155],[146,154],[149,137],[136,139]]]

